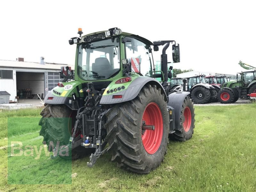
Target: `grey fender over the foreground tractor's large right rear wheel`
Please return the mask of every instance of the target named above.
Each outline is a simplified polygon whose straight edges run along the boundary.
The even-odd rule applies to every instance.
[[[123,91],[118,91],[116,93],[109,94],[109,95],[103,94],[100,100],[100,104],[114,104],[114,103],[122,103],[125,101],[133,100],[135,97],[137,97],[142,87],[146,84],[153,84],[153,85],[156,85],[157,87],[160,87],[161,93],[164,94],[164,100],[167,101],[167,95],[164,91],[163,86],[159,83],[159,81],[151,77],[140,76],[134,79],[132,83],[129,84],[127,89]],[[113,99],[114,95],[122,95],[123,97],[120,99]]]

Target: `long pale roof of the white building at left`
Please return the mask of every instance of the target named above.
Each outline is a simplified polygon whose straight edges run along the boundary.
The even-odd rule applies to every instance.
[[[46,63],[40,64],[36,62],[26,62],[26,61],[9,61],[0,60],[0,67],[13,67],[13,68],[42,68],[42,69],[58,69],[61,66],[70,66],[72,70],[75,69],[74,65],[60,64],[60,63]]]

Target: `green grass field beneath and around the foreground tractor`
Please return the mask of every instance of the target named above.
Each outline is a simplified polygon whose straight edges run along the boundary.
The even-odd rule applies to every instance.
[[[0,191],[256,191],[255,110],[255,103],[195,107],[192,139],[170,141],[164,162],[147,175],[117,168],[109,154],[98,159],[93,168],[86,166],[88,156],[73,161],[72,170],[70,162],[42,155],[39,160],[26,158],[16,166],[9,157],[12,173],[18,173],[9,172],[11,178],[7,178],[7,117],[12,117],[9,123],[14,127],[20,124],[17,132],[9,132],[9,139],[17,137],[36,145],[42,142],[37,126],[40,111],[0,112]],[[49,184],[8,184],[20,182]]]

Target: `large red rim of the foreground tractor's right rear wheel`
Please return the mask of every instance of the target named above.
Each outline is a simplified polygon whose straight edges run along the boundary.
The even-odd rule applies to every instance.
[[[146,125],[154,125],[155,130],[141,130],[141,139],[145,150],[154,154],[161,145],[163,137],[163,116],[156,103],[149,103],[146,107],[142,121]]]

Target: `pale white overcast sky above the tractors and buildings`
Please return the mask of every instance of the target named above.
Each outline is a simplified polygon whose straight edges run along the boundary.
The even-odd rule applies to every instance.
[[[1,1],[0,59],[73,64],[68,39],[118,27],[150,41],[175,40],[174,68],[236,74],[256,66],[254,1]],[[171,49],[169,49],[171,59]],[[160,60],[154,58],[155,60]]]

